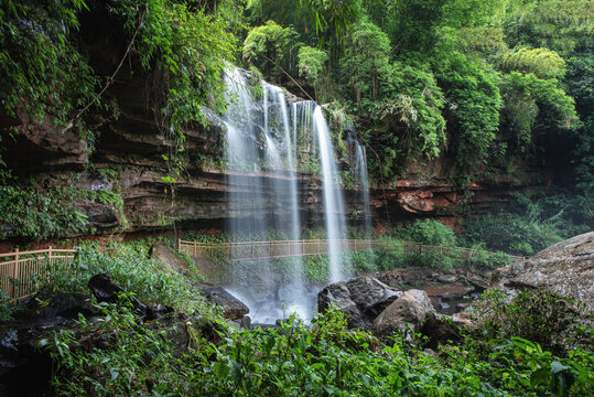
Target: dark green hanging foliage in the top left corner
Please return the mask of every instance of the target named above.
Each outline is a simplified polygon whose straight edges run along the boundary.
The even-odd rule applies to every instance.
[[[45,3],[45,4],[44,4]],[[71,37],[84,0],[2,1],[0,8],[1,109],[14,116],[24,108],[43,121],[64,125],[94,96],[98,77]]]

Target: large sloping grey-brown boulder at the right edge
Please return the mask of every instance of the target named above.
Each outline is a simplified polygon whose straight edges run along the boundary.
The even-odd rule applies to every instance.
[[[557,243],[494,272],[490,288],[544,288],[594,310],[594,232]]]

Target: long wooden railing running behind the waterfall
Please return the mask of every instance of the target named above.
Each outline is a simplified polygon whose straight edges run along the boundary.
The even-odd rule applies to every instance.
[[[472,248],[431,246],[414,242],[395,243],[377,239],[339,239],[336,240],[336,245],[339,253],[359,251],[361,249],[372,248],[401,254],[434,253],[462,259],[469,259],[479,254],[493,254]],[[197,243],[182,239],[177,240],[179,251],[184,251],[196,258],[227,260],[325,255],[328,254],[331,242],[327,239],[241,243]],[[512,258],[520,259],[520,257]]]

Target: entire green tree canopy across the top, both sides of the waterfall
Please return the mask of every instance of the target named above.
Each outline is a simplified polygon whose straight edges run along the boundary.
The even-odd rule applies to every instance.
[[[123,39],[108,75],[85,46],[97,10]],[[593,14],[588,0],[6,0],[0,100],[8,116],[84,130],[112,106],[119,68],[140,66],[183,144],[205,107],[225,106],[220,76],[236,63],[336,101],[374,146],[376,178],[438,159],[466,183],[522,160],[571,165],[588,189]]]

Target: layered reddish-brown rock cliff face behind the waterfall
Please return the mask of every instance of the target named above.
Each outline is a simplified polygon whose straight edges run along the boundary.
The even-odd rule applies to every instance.
[[[162,154],[174,150],[175,143],[159,130],[150,111],[141,107],[139,98],[147,93],[130,84],[127,88],[134,95],[123,95],[123,89],[112,90],[120,115],[96,126],[93,151],[74,130],[63,132],[50,122],[31,124],[26,115],[4,124],[6,128],[15,126],[20,131],[13,140],[4,141],[3,159],[8,167],[18,175],[60,174],[61,181],[68,180],[79,189],[110,190],[120,194],[123,200],[121,212],[127,221],[118,216],[114,205],[79,204],[79,211],[89,217],[89,226],[97,229],[172,227],[173,221],[182,227],[223,228],[228,217],[257,216],[249,208],[241,214],[228,212],[226,193],[241,191],[250,181],[246,176],[244,185],[230,185],[225,173],[213,164],[213,159],[223,157],[224,131],[216,124],[186,130],[185,171],[175,175],[173,185],[166,180],[171,172]],[[106,180],[100,170],[114,170],[116,176]],[[267,179],[270,184],[273,180],[272,175]],[[289,186],[289,181],[283,182]],[[302,174],[300,185],[302,219],[310,225],[323,223],[320,179]],[[512,180],[498,185],[475,184],[471,187],[474,194],[463,197],[454,185],[439,180],[401,180],[371,189],[371,216],[381,224],[418,215],[455,221],[461,205],[468,205],[473,212],[493,211],[505,205],[511,193],[525,186]],[[347,215],[355,222],[356,214],[361,213],[358,197],[356,191],[346,192]]]

